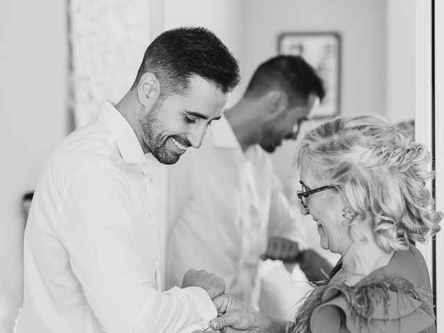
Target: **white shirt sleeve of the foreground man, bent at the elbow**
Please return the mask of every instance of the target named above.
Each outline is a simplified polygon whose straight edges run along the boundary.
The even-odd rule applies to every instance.
[[[56,233],[105,332],[192,332],[216,316],[198,287],[161,293],[137,253],[130,188],[117,169],[89,169],[66,190]],[[155,248],[153,247],[153,250]]]

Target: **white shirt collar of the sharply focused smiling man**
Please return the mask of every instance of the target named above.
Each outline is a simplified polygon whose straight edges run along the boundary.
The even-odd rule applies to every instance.
[[[133,128],[109,101],[102,101],[96,118],[114,138],[123,161],[128,164],[146,163],[147,159]],[[148,155],[148,154],[146,154]]]

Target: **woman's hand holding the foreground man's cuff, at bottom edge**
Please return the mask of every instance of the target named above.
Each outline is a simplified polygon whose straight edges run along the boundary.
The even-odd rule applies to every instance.
[[[214,298],[213,303],[219,316],[211,322],[213,330],[223,333],[285,332],[286,322],[259,314],[232,295],[225,293]]]

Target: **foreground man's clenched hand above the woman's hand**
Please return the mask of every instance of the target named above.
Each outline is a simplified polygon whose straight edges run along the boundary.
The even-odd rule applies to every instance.
[[[225,292],[225,281],[213,273],[208,273],[205,269],[196,271],[190,269],[183,276],[182,288],[200,287],[207,291],[211,299],[222,295]]]

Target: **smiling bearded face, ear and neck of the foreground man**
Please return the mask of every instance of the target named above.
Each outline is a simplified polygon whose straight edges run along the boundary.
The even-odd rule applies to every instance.
[[[186,91],[162,96],[160,83],[152,73],[145,73],[139,87],[116,105],[128,122],[136,128],[144,153],[152,153],[163,164],[174,164],[187,148],[199,148],[207,127],[220,119],[227,102],[226,92],[201,76],[189,77]],[[140,112],[128,104],[142,105]]]

